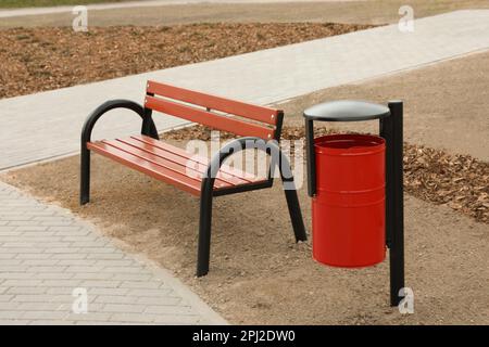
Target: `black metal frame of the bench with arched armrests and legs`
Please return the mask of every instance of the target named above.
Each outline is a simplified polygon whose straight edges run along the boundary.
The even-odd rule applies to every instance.
[[[149,86],[149,85],[148,85]],[[171,86],[170,86],[171,87]],[[172,87],[173,88],[173,87]],[[153,93],[147,91],[147,95],[152,97]],[[213,97],[216,98],[216,97]],[[223,99],[224,100],[224,99]],[[115,108],[127,108],[134,111],[142,119],[141,134],[159,140],[156,127],[152,119],[152,108],[141,106],[138,103],[128,100],[113,100],[108,101],[96,108],[85,121],[82,130],[80,143],[80,204],[87,204],[90,200],[90,150],[87,146],[91,142],[92,129],[97,120],[106,112]],[[210,107],[208,107],[208,112]],[[222,196],[227,194],[235,194],[240,192],[253,191],[259,189],[272,188],[274,180],[274,169],[278,166],[280,178],[284,184],[288,184],[285,189],[288,210],[296,236],[296,241],[305,241],[306,233],[302,219],[302,214],[299,205],[299,200],[293,182],[293,176],[290,163],[286,155],[279,149],[279,140],[283,127],[284,113],[281,111],[277,114],[276,129],[274,139],[265,141],[259,137],[242,137],[238,138],[220,150],[217,154],[210,160],[206,174],[202,178],[201,193],[200,193],[200,222],[199,222],[199,241],[198,241],[198,256],[197,256],[197,275],[205,275],[209,272],[210,262],[210,247],[211,247],[211,221],[212,221],[212,202],[214,196]],[[267,178],[258,183],[249,183],[236,185],[230,189],[216,190],[214,181],[217,171],[223,163],[230,155],[248,149],[264,151],[272,160],[268,169]]]

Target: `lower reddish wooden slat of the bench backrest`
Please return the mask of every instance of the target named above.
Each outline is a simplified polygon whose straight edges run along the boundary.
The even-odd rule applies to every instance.
[[[211,112],[154,97],[146,97],[145,106],[167,115],[199,123],[211,128],[233,132],[242,137],[259,137],[264,140],[271,140],[274,137],[274,129],[268,127],[216,115]]]

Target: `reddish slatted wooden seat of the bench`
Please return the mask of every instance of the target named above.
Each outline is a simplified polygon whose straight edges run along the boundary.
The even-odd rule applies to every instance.
[[[200,195],[202,174],[209,165],[209,159],[203,156],[197,156],[184,149],[143,134],[88,142],[87,147],[195,195]],[[266,178],[223,165],[214,181],[214,191],[266,182]]]

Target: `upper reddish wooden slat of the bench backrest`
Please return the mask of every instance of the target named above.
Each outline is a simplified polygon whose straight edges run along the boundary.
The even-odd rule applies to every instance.
[[[279,114],[278,110],[253,105],[241,101],[230,100],[151,80],[148,81],[147,92],[230,113],[233,115],[263,121],[269,125],[277,124],[277,116]]]

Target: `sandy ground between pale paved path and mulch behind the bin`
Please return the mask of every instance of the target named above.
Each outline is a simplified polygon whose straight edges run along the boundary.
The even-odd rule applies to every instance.
[[[404,100],[404,140],[489,162],[489,51],[355,85],[325,89],[279,104],[290,124],[302,125],[310,105],[341,99],[386,103]],[[376,123],[330,124],[378,131]]]

